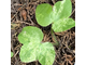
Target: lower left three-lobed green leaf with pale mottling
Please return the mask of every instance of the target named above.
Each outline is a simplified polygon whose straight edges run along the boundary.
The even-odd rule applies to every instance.
[[[19,52],[22,62],[39,61],[42,65],[53,65],[55,60],[54,47],[51,42],[41,43],[43,32],[40,28],[33,26],[24,27],[18,35],[18,40],[23,43]]]

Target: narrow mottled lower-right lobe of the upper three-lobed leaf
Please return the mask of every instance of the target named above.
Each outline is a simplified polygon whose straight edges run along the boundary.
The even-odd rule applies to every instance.
[[[64,31],[75,26],[75,21],[72,18],[61,18],[55,22],[52,26],[54,31]]]

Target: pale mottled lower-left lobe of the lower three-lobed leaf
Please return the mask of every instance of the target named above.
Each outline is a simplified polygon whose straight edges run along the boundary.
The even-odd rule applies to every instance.
[[[39,54],[38,50],[39,50],[39,46],[37,44],[37,42],[24,44],[20,48],[20,53],[19,53],[20,61],[24,63],[30,63],[37,61],[37,56]]]

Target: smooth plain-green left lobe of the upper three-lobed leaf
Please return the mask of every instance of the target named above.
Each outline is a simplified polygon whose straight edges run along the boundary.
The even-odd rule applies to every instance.
[[[53,8],[48,3],[39,4],[35,10],[37,22],[41,26],[48,26],[53,22],[52,12]]]

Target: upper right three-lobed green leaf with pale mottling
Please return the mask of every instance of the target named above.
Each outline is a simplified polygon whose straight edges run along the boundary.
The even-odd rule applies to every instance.
[[[69,17],[71,12],[71,0],[58,1],[53,8],[48,3],[42,3],[35,9],[35,18],[41,26],[45,27],[52,24],[52,29],[60,32],[75,26],[75,21]]]

